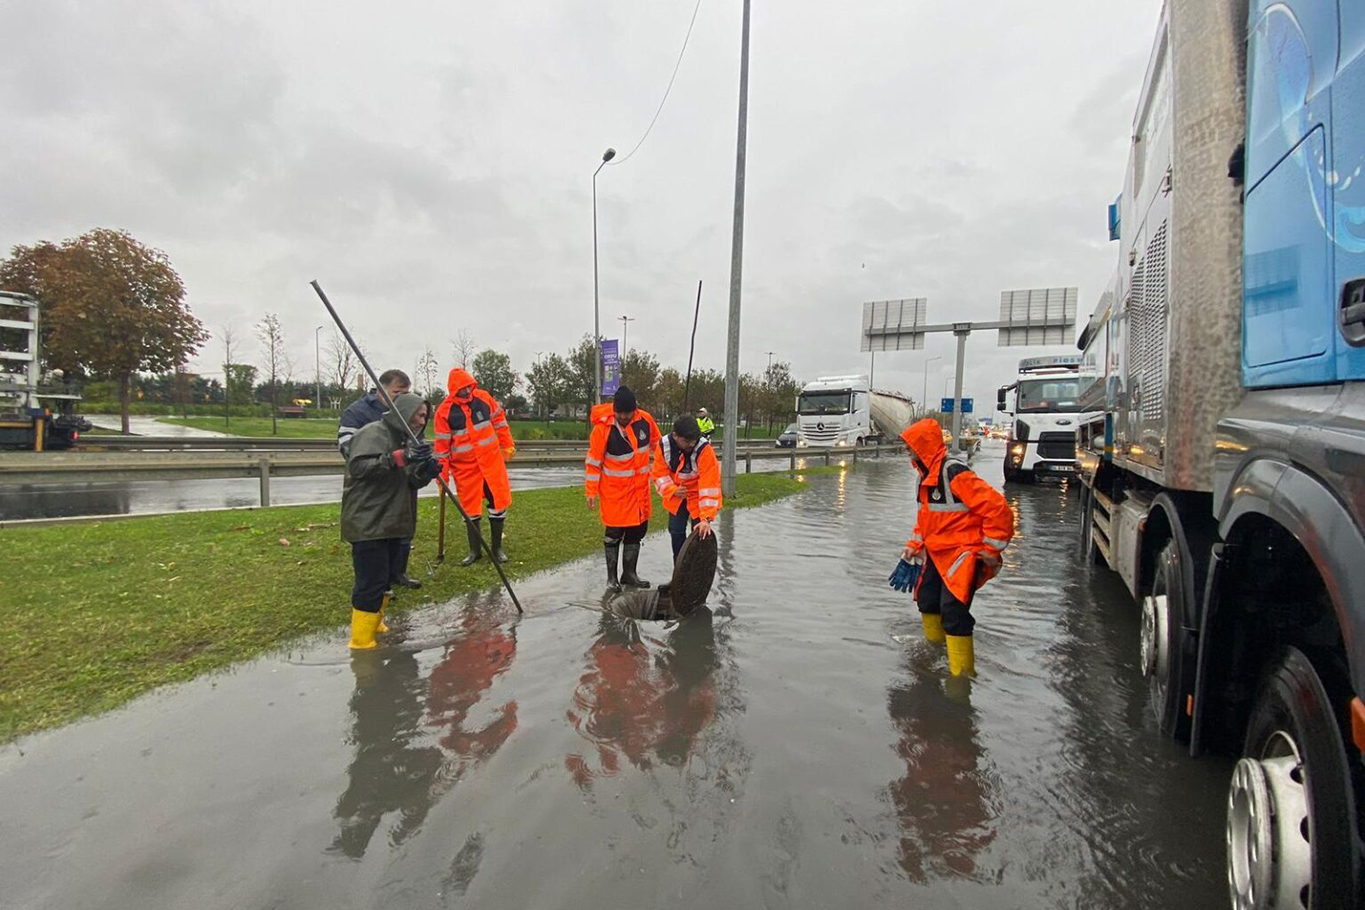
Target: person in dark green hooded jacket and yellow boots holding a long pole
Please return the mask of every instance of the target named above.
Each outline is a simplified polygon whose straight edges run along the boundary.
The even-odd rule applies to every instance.
[[[341,539],[351,544],[355,587],[351,589],[351,648],[378,647],[377,632],[388,632],[389,580],[403,558],[403,542],[418,524],[416,491],[441,473],[431,445],[422,442],[427,404],[403,393],[393,408],[351,437],[341,491]],[[414,442],[403,424],[412,428]]]

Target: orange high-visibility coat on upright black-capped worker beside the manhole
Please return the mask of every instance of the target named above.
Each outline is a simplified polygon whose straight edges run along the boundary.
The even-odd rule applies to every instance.
[[[610,402],[592,408],[583,493],[599,498],[598,510],[607,528],[633,528],[650,520],[650,453],[658,443],[659,427],[647,411],[636,411],[622,428]]]

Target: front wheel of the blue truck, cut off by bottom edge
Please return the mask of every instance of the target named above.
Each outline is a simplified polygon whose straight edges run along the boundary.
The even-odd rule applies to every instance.
[[[1355,805],[1346,750],[1313,664],[1284,648],[1246,729],[1227,797],[1237,910],[1354,905]]]

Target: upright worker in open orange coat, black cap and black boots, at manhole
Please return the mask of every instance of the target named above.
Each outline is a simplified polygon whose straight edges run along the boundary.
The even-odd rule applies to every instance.
[[[597,509],[606,527],[606,581],[613,591],[621,585],[648,588],[636,573],[640,542],[650,529],[650,453],[659,445],[659,427],[643,411],[635,393],[617,389],[610,404],[592,408],[592,434],[583,475],[588,508]],[[617,580],[617,558],[621,577]]]

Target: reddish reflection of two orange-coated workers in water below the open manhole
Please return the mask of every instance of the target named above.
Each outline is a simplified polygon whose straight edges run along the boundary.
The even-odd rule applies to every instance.
[[[642,630],[643,629],[643,630]],[[573,780],[591,789],[614,776],[622,760],[642,771],[657,763],[682,767],[717,715],[718,664],[711,611],[699,608],[672,630],[603,615],[588,648],[568,716],[592,754],[573,753],[564,764]]]

